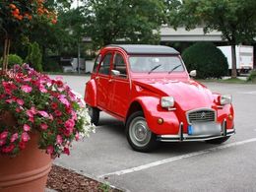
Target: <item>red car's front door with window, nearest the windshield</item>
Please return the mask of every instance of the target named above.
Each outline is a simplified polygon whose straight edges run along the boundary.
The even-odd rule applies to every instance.
[[[130,82],[127,63],[120,52],[114,53],[108,89],[111,112],[120,117],[125,117],[130,99]]]

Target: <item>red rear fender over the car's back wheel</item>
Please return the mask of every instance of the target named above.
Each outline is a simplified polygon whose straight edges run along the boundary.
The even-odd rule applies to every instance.
[[[87,104],[96,107],[96,81],[94,79],[86,84],[84,100]]]

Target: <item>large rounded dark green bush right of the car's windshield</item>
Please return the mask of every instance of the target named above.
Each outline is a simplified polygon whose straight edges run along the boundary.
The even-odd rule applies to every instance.
[[[197,70],[197,78],[222,78],[228,64],[224,53],[212,42],[197,42],[182,53],[188,71]]]

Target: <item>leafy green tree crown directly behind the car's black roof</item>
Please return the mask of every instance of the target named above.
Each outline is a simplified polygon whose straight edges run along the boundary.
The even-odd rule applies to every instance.
[[[163,4],[159,0],[88,0],[84,6],[87,34],[96,46],[117,40],[156,43],[160,40]]]

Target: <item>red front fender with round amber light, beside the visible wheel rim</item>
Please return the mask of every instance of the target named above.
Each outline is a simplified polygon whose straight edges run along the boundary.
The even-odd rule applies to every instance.
[[[160,98],[156,96],[140,96],[135,99],[143,108],[150,130],[157,135],[178,134],[179,120],[174,111],[168,111],[160,106]],[[163,123],[159,124],[158,119]]]

